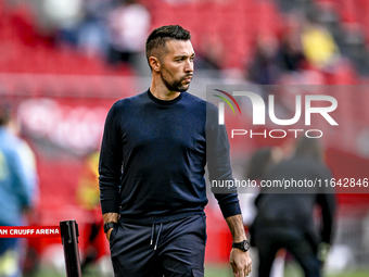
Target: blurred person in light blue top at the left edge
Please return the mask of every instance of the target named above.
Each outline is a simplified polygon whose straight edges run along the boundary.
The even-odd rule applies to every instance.
[[[13,126],[10,106],[0,104],[0,226],[23,225],[37,189],[35,156]],[[18,238],[0,239],[0,276],[22,276],[24,245]]]

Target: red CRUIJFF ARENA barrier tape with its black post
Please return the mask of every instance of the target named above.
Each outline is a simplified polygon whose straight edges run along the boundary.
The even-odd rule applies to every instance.
[[[67,277],[81,277],[76,221],[60,222],[60,226],[0,226],[0,238],[62,238]]]

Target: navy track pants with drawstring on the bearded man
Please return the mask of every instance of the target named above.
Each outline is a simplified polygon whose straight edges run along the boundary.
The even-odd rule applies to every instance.
[[[111,234],[115,277],[203,277],[205,215],[154,225],[119,222]]]

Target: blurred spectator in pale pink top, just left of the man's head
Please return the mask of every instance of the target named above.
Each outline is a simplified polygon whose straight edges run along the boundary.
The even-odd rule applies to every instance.
[[[138,58],[144,51],[150,24],[151,15],[145,7],[136,0],[118,0],[117,7],[109,15],[110,63],[128,62],[137,67]]]

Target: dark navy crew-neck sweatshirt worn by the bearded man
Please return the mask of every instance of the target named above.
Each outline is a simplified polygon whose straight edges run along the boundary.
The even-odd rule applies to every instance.
[[[106,116],[101,146],[102,213],[138,224],[204,213],[206,163],[211,179],[232,179],[214,104],[188,92],[169,101],[150,90],[122,99]],[[236,192],[215,197],[224,217],[241,213]]]

